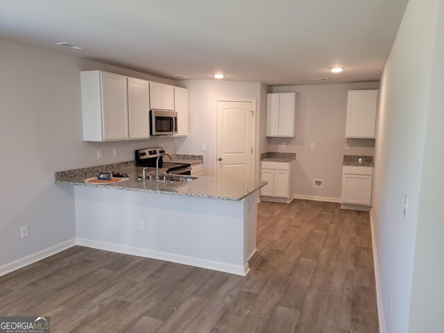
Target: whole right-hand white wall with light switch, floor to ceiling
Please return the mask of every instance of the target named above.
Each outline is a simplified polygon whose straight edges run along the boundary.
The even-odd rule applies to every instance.
[[[442,201],[435,201],[437,206],[429,207],[428,199],[439,196],[444,184],[442,176],[437,178],[436,185],[429,178],[435,176],[436,171],[426,176],[429,169],[442,169],[442,164],[434,162],[438,162],[439,158],[442,161],[443,135],[438,134],[438,137],[433,139],[430,137],[436,131],[433,123],[429,123],[432,133],[427,133],[427,122],[442,120],[443,112],[442,96],[435,96],[433,111],[427,112],[436,31],[436,6],[435,0],[409,1],[381,79],[373,218],[384,314],[382,326],[385,322],[386,332],[389,333],[443,332],[436,326],[427,330],[427,326],[423,325],[435,315],[441,318],[434,317],[434,320],[441,320],[442,323],[443,310],[442,297],[439,306],[436,305],[435,298],[435,302],[427,304],[429,293],[438,292],[438,295],[443,296],[443,259],[440,257],[444,250],[443,242],[436,246],[434,236],[431,239],[435,241],[433,245],[428,244],[430,233],[437,232],[439,236],[443,234],[442,225],[437,227],[436,221],[440,216],[442,224],[443,210],[439,208]],[[442,31],[440,36],[442,43]],[[441,67],[442,74],[442,53],[441,59],[437,61],[436,69]],[[437,78],[436,84],[438,83]],[[442,85],[436,85],[432,91],[442,95],[442,88]],[[440,110],[438,104],[441,106]],[[433,114],[432,119],[427,120],[427,113],[429,116]],[[433,154],[438,152],[441,157],[436,160]],[[424,176],[425,178],[422,178]],[[437,185],[441,185],[441,191],[434,191]],[[407,221],[402,216],[404,194],[409,196]],[[427,212],[429,208],[431,211]],[[436,215],[440,210],[441,215]],[[429,218],[431,220],[427,221]],[[427,230],[428,227],[432,229]],[[434,258],[430,259],[431,256]],[[433,268],[435,264],[440,268]],[[422,268],[427,268],[427,271],[417,271]],[[441,276],[436,275],[436,272]],[[417,279],[413,290],[412,275]],[[434,279],[434,284],[428,284]],[[423,291],[427,291],[427,294],[422,294]],[[425,313],[426,309],[430,309],[430,305],[437,307]],[[413,313],[413,309],[417,312]],[[422,315],[424,317],[420,319]]]

